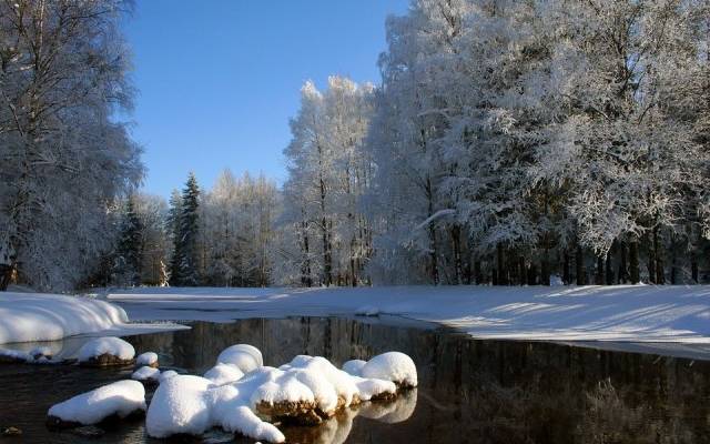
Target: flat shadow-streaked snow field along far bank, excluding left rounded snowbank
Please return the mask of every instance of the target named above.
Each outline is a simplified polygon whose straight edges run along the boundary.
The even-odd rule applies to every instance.
[[[481,339],[710,344],[710,285],[166,287],[104,296],[134,320],[354,315],[368,306]]]

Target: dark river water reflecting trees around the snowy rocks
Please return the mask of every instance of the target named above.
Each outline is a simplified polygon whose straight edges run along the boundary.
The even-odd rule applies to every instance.
[[[284,428],[293,443],[707,443],[710,362],[564,344],[478,341],[424,330],[329,317],[194,323],[189,331],[126,337],[161,366],[201,374],[229,345],[250,343],[266,365],[296,354],[334,364],[386,351],[409,354],[419,387],[393,404],[364,404],[318,427]],[[44,427],[54,403],[130,370],[0,365],[0,426],[23,430],[0,442],[143,443],[143,422],[100,438]],[[225,441],[223,441],[225,440]],[[196,442],[232,442],[214,432]],[[235,438],[253,443],[254,440]]]

